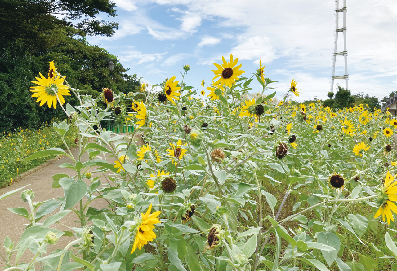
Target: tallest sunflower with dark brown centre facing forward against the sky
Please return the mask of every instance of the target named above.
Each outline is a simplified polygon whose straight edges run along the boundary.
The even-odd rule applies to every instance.
[[[237,76],[245,73],[245,71],[239,70],[241,65],[237,65],[238,58],[233,61],[233,55],[230,54],[230,61],[226,62],[225,58],[222,56],[223,64],[222,66],[214,63],[215,67],[218,70],[212,70],[215,74],[215,77],[212,80],[215,80],[219,77],[218,81],[215,82],[216,85],[220,84],[221,86],[226,85],[229,88],[231,85],[238,79]],[[236,66],[236,67],[234,67]],[[234,68],[233,68],[234,67]]]

